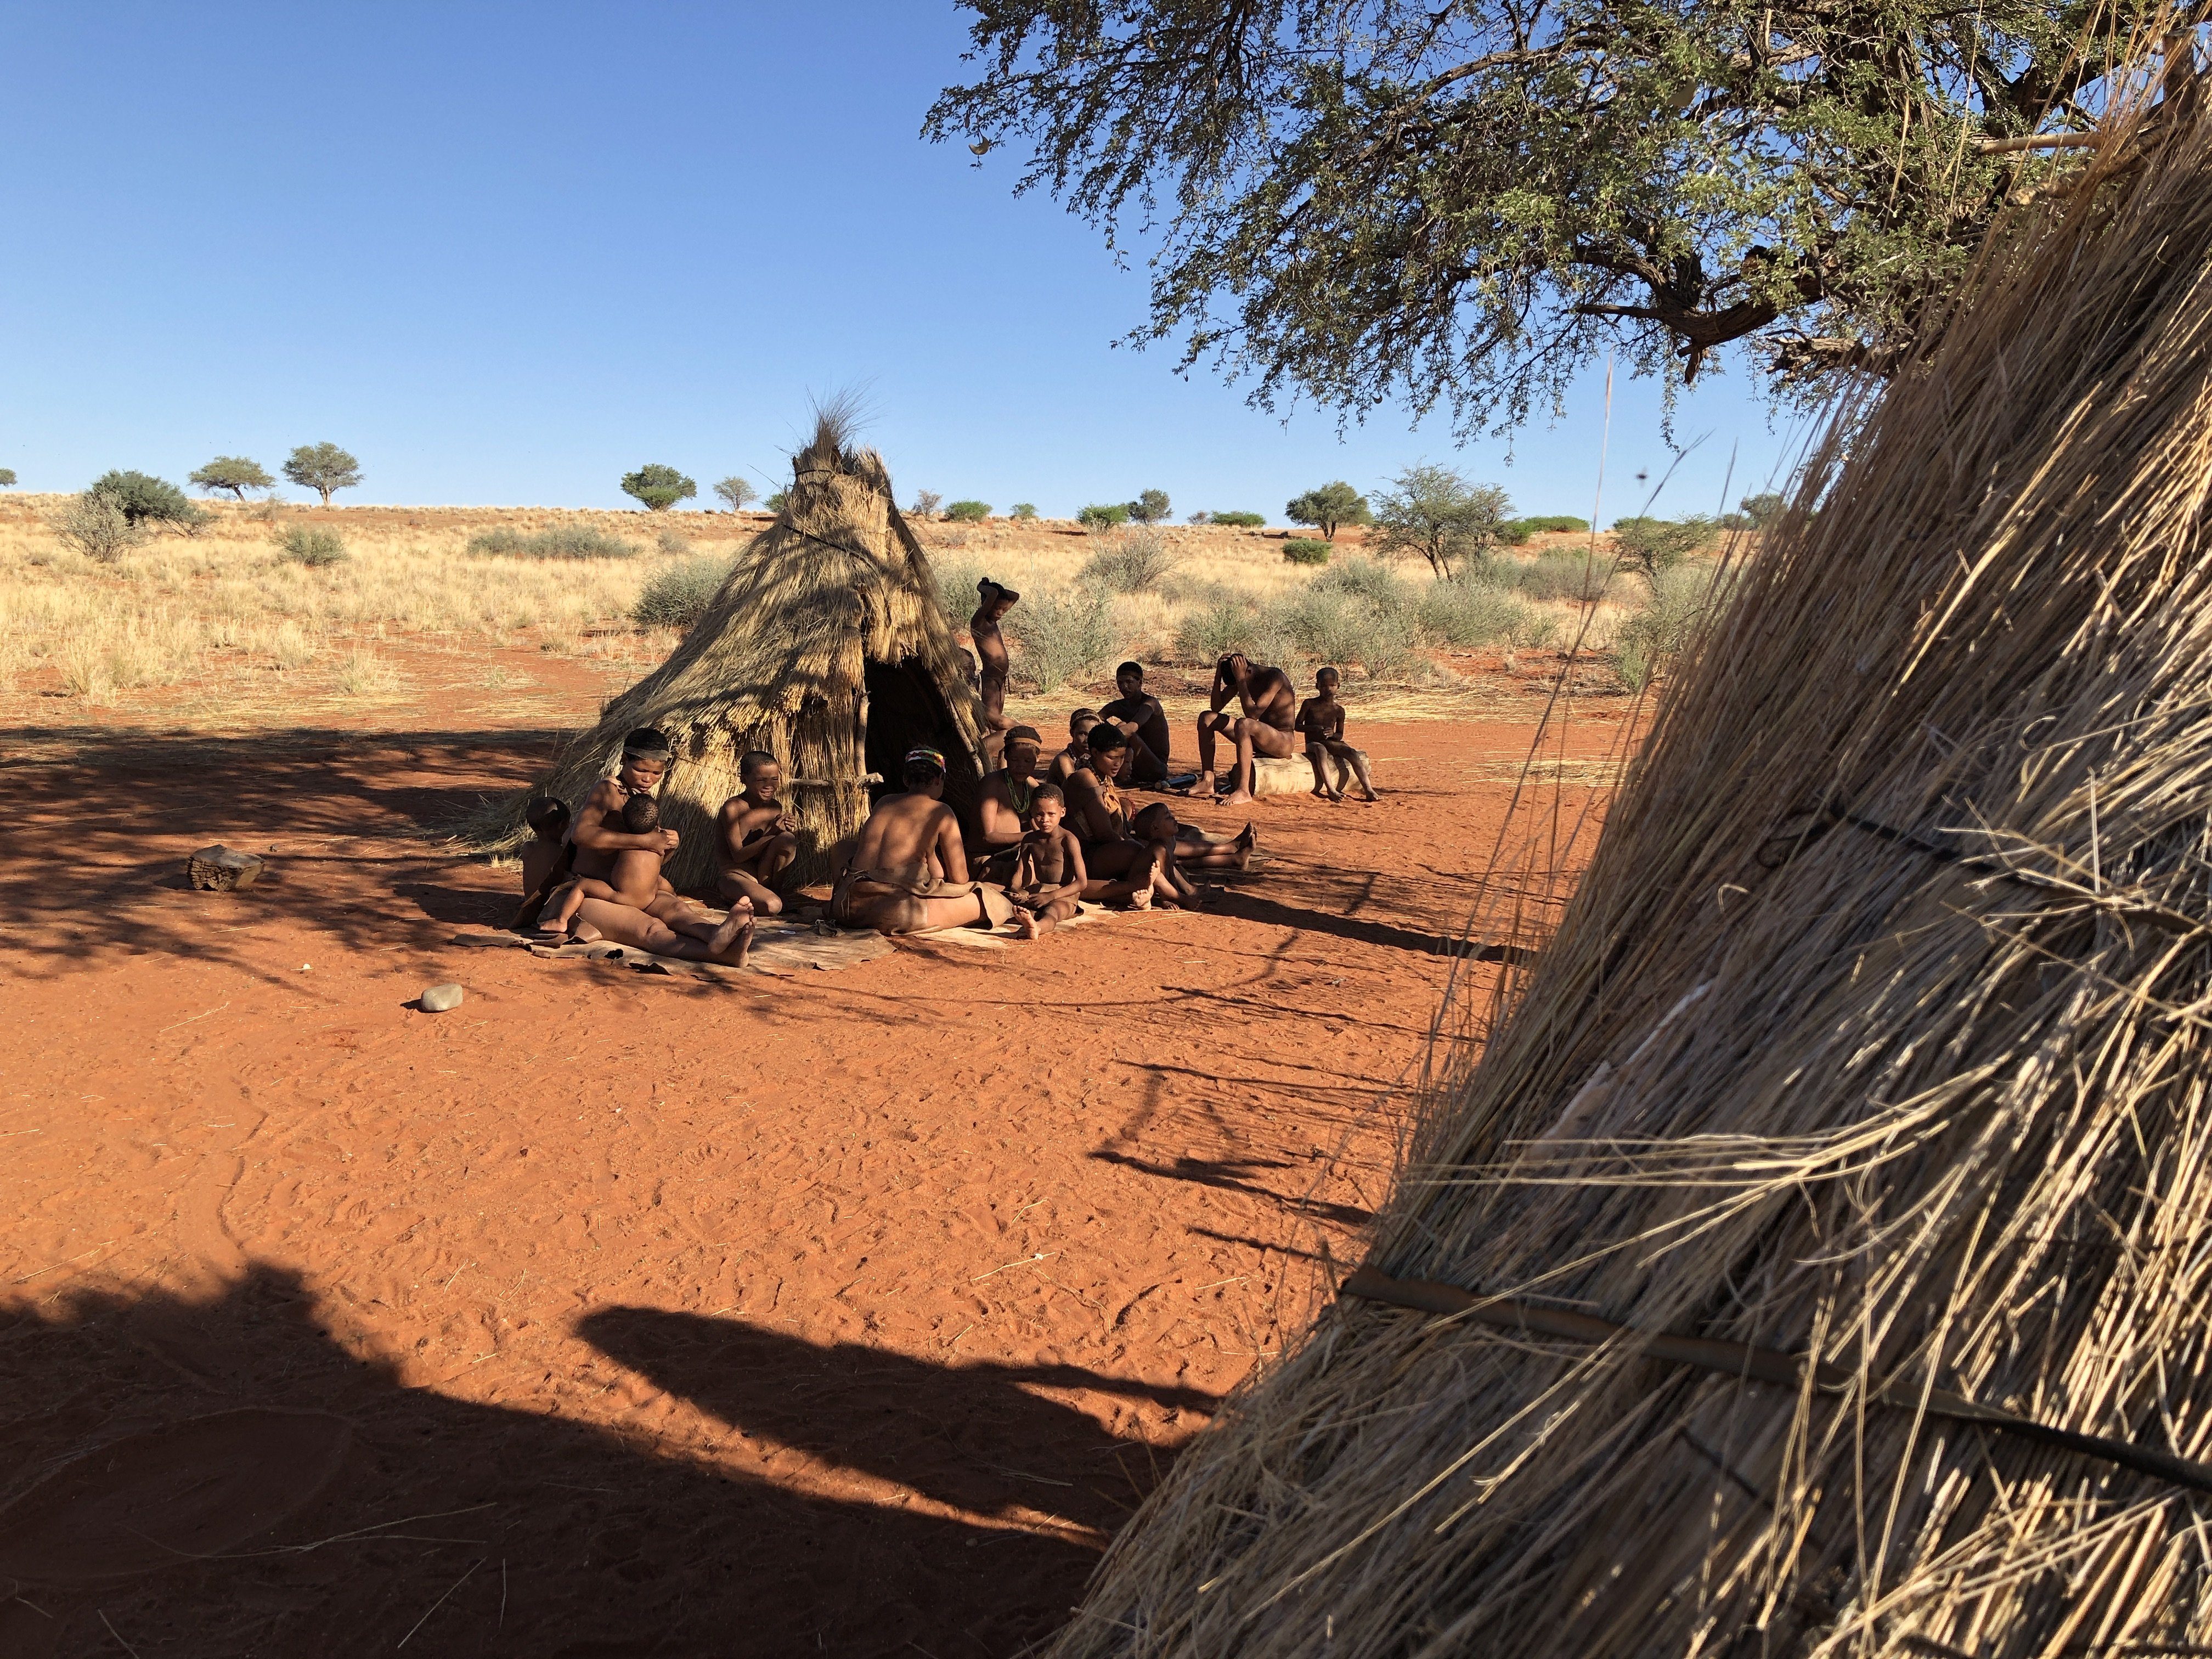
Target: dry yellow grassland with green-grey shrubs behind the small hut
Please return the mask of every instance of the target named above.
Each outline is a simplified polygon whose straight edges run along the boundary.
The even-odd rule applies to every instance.
[[[195,535],[161,533],[97,562],[64,544],[69,495],[0,498],[0,703],[18,723],[148,719],[268,723],[411,695],[396,644],[465,659],[535,648],[606,672],[608,688],[675,641],[639,595],[712,584],[765,513],[637,513],[456,507],[210,504]],[[1022,591],[1015,677],[1088,684],[1113,661],[1201,666],[1234,646],[1354,679],[1449,690],[1451,653],[1489,650],[1528,672],[1582,635],[1613,650],[1644,584],[1615,575],[1584,630],[1588,538],[1542,535],[1469,582],[1380,566],[1360,533],[1329,564],[1292,564],[1281,531],[1164,526],[1082,531],[1055,520],[929,522],[956,624],[978,575]],[[343,544],[334,553],[330,535]],[[473,542],[473,546],[471,546]],[[593,557],[533,555],[546,544]],[[491,551],[491,549],[511,551]],[[608,555],[613,551],[615,555]],[[1610,551],[1599,542],[1597,564]],[[964,597],[967,595],[967,597]],[[1444,661],[1440,661],[1440,655]],[[1365,672],[1363,672],[1365,670]],[[467,672],[467,670],[458,670]],[[507,668],[484,668],[498,686]]]

